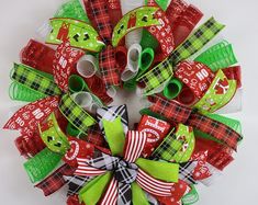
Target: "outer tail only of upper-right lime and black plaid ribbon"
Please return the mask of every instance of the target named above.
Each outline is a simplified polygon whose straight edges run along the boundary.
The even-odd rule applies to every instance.
[[[225,25],[216,22],[214,18],[209,19],[172,52],[168,60],[170,64],[177,65],[179,61],[189,58],[206,45],[224,27]]]

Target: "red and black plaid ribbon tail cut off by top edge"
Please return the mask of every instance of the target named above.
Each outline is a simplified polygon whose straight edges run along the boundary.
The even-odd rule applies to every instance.
[[[109,8],[106,0],[85,0],[87,14],[92,25],[98,30],[102,41],[109,45],[112,38],[112,25],[109,15]]]

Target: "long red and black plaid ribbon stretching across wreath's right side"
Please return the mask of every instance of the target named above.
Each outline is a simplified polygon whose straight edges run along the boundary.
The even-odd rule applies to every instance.
[[[236,150],[238,139],[242,136],[234,129],[191,109],[183,106],[176,101],[168,101],[160,96],[155,96],[155,103],[150,110],[176,123],[183,123],[194,127],[227,145]]]

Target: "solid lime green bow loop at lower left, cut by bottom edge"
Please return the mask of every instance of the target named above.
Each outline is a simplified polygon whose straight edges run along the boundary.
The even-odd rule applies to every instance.
[[[103,175],[99,175],[87,183],[79,192],[80,202],[85,202],[87,205],[96,205],[104,191],[106,190],[110,180],[112,179],[112,173],[106,172]]]

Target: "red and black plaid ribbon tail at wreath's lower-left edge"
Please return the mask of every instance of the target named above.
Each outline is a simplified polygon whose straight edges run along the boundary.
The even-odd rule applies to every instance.
[[[65,185],[67,181],[64,179],[64,175],[71,175],[74,171],[75,168],[66,163],[35,186],[41,189],[45,196],[48,196]]]

